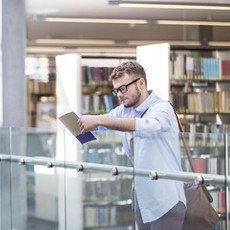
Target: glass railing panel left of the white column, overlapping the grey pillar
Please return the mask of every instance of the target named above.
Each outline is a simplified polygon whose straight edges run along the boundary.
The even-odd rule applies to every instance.
[[[18,159],[11,164],[11,229],[58,229],[57,169],[46,163],[56,158],[56,131],[11,129],[11,134],[12,161]]]

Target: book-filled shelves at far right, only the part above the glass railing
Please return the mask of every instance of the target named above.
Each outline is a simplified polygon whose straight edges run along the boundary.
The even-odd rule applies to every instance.
[[[187,131],[229,132],[229,60],[224,51],[171,53],[170,101]]]

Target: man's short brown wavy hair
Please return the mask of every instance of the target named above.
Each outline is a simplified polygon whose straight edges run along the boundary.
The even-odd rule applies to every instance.
[[[145,70],[136,61],[126,61],[115,67],[113,72],[109,76],[109,80],[112,81],[114,79],[122,77],[125,73],[128,75],[133,75],[134,77],[144,78],[147,84]]]

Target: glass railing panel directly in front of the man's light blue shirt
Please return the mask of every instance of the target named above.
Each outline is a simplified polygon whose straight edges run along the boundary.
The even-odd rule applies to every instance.
[[[130,145],[132,146],[132,142]],[[193,173],[189,173],[191,167],[186,149],[192,154],[195,171],[198,175],[214,174],[212,176],[215,178],[225,174],[223,134],[136,132],[134,133],[133,149],[136,175],[135,213],[139,226],[143,223],[149,226],[149,222],[158,226],[158,224],[162,224],[161,221],[166,221],[164,224],[169,226],[183,223],[182,214],[185,212],[184,204],[186,204],[184,181],[198,183],[198,178],[202,179],[202,177],[195,177]],[[138,176],[139,169],[153,171],[150,175],[154,180],[150,180],[147,172],[145,176]],[[186,172],[185,177],[180,178],[184,172]],[[189,179],[188,176],[192,175],[193,177]],[[221,178],[224,181],[224,177]],[[201,182],[202,180],[200,180]],[[225,229],[225,201],[223,199],[225,188],[223,183],[207,182],[206,184],[213,197],[212,206],[220,216],[219,222],[209,229]],[[178,211],[180,214],[177,223],[170,219],[172,211]]]

